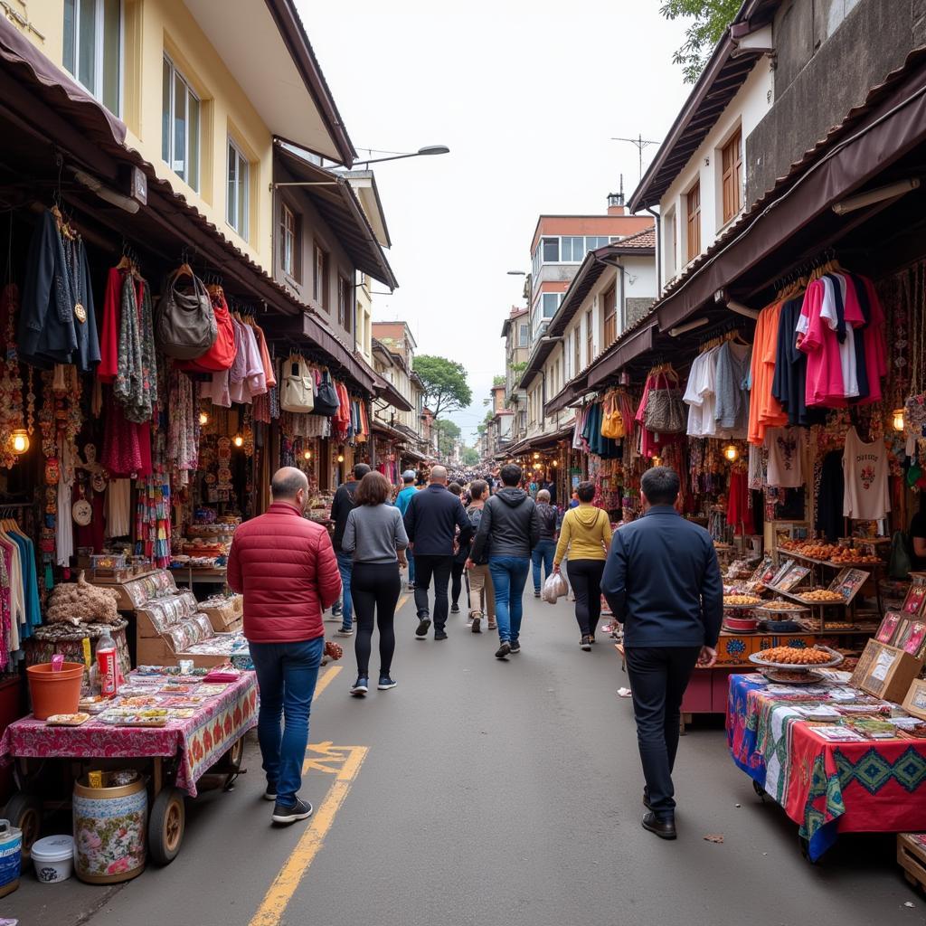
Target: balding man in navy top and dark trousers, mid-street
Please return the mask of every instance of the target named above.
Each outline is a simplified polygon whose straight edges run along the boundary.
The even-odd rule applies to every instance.
[[[434,639],[446,640],[447,586],[453,569],[454,540],[458,528],[458,543],[469,543],[472,527],[460,500],[447,491],[447,470],[443,466],[432,467],[428,487],[408,503],[405,526],[415,557],[415,607],[419,619],[415,636],[424,640],[431,629],[428,592],[433,579]]]

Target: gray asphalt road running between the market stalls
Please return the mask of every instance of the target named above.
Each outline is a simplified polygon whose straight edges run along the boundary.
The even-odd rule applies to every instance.
[[[112,888],[26,875],[0,899],[0,917],[24,926],[926,922],[893,837],[844,837],[820,865],[805,862],[795,825],[733,766],[720,720],[682,739],[678,841],[644,832],[631,704],[616,694],[626,676],[604,641],[582,653],[566,602],[529,597],[522,653],[498,662],[493,636],[467,632],[462,615],[451,618],[449,640],[416,641],[404,601],[398,687],[349,697],[347,646],[344,668],[319,694],[310,742],[357,750],[308,772],[315,830],[271,828],[252,742],[249,772],[231,794],[188,802],[181,854],[168,868]]]

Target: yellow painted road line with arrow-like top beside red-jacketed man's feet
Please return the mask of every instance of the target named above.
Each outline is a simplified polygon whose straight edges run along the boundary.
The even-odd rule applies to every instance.
[[[279,926],[286,907],[293,899],[308,867],[319,854],[325,836],[332,828],[334,815],[344,804],[344,798],[350,791],[351,784],[357,778],[357,772],[369,752],[366,746],[332,746],[331,743],[309,745],[308,749],[324,758],[307,757],[307,768],[314,768],[314,763],[322,761],[341,761],[344,764],[338,770],[324,769],[334,772],[337,777],[321,802],[321,806],[315,811],[306,832],[302,834],[302,838],[294,848],[293,854],[286,859],[280,873],[270,885],[267,894],[264,895],[249,926]]]

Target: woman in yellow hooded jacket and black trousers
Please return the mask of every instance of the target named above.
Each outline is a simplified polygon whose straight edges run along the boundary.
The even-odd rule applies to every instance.
[[[570,508],[559,529],[559,544],[553,557],[553,569],[569,551],[566,575],[576,596],[576,620],[588,652],[594,644],[594,629],[601,618],[601,575],[605,571],[607,546],[611,543],[611,520],[607,511],[592,504],[594,482],[579,483],[579,507]]]

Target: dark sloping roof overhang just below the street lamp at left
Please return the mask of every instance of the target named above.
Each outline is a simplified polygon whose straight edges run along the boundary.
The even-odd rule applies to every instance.
[[[295,182],[320,184],[294,189],[301,190],[318,208],[321,218],[331,226],[357,269],[369,273],[374,280],[394,290],[398,283],[395,282],[393,270],[350,181],[344,174],[313,164],[300,155],[297,148],[280,139],[275,140],[274,148]],[[276,170],[274,181],[278,181]]]

